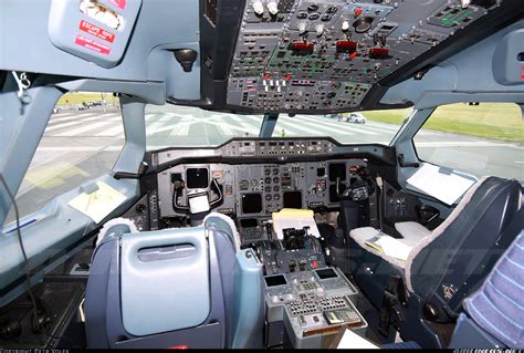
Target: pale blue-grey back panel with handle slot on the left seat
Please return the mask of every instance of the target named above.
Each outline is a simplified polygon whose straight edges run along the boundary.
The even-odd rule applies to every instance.
[[[138,257],[140,249],[181,245],[195,251],[156,261]],[[144,336],[197,326],[208,318],[209,257],[202,229],[179,229],[176,237],[169,229],[128,233],[120,251],[122,321],[127,332]]]

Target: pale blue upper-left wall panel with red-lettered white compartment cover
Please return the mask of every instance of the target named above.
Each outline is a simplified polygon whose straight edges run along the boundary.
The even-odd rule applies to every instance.
[[[198,1],[150,0],[142,7],[133,6],[134,1],[99,1],[122,14],[123,21],[129,12],[132,20],[122,31],[81,13],[83,1],[71,1],[74,7],[60,9],[55,9],[54,2],[62,1],[13,1],[2,7],[0,23],[6,35],[2,35],[1,51],[9,54],[0,55],[0,69],[98,80],[166,82],[169,95],[200,98],[199,60],[191,72],[184,72],[172,53],[175,49],[191,49],[199,58]],[[114,3],[126,3],[125,10]],[[133,23],[135,12],[137,18]],[[21,19],[27,19],[23,24]],[[7,35],[9,29],[15,29],[15,35]],[[128,42],[120,43],[120,35],[126,34]],[[122,52],[122,58],[113,58],[116,52]],[[101,59],[103,56],[107,59]]]

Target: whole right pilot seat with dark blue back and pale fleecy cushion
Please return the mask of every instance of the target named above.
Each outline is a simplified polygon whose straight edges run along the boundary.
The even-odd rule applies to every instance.
[[[408,298],[401,300],[404,305],[396,316],[406,324],[453,321],[462,311],[462,299],[481,283],[518,235],[518,227],[509,225],[522,216],[522,193],[517,180],[484,177],[433,231],[416,222],[397,225],[405,237],[398,240],[412,247],[407,261],[366,245],[366,240],[379,233],[378,229],[353,229],[349,232],[352,274],[375,307],[382,309],[385,300],[392,294],[387,290],[391,279],[405,283]],[[415,328],[407,331],[412,332],[413,339],[422,334]],[[430,332],[429,324],[422,331]]]

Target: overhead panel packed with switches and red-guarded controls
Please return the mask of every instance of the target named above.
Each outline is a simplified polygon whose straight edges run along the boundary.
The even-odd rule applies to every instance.
[[[500,8],[514,6],[505,2],[248,0],[237,6],[241,18],[229,32],[235,43],[220,80],[226,97],[214,94],[209,108],[311,114],[369,108],[388,80],[442,59],[452,43],[457,50],[472,24],[501,19]],[[202,33],[209,25],[223,35],[227,21],[233,24],[232,17],[220,21],[220,6],[223,1],[203,2]],[[202,38],[202,71],[217,72],[210,46]]]

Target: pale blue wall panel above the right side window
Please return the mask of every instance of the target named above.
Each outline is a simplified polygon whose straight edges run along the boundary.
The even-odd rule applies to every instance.
[[[380,103],[413,102],[417,108],[460,102],[524,102],[523,61],[518,53],[524,21],[478,42],[440,62],[420,79],[404,81]],[[524,58],[521,58],[524,60]],[[520,83],[520,84],[517,84]]]

